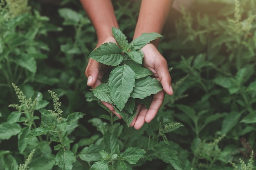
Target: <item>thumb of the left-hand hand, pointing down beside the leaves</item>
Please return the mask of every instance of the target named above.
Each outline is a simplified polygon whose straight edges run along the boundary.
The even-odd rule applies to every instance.
[[[99,69],[101,64],[95,60],[89,60],[89,63],[85,69],[85,75],[88,77],[87,85],[92,86],[97,81],[99,75]]]

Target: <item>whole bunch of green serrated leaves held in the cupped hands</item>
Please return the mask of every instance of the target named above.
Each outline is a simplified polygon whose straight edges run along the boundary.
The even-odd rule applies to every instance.
[[[117,113],[129,126],[137,112],[135,102],[148,107],[149,96],[162,90],[161,83],[150,77],[153,73],[142,66],[144,55],[140,50],[162,35],[143,33],[128,43],[121,30],[113,27],[112,34],[120,47],[112,42],[105,43],[89,55],[97,62],[113,66],[108,80],[94,88],[92,92],[101,101],[113,104]]]

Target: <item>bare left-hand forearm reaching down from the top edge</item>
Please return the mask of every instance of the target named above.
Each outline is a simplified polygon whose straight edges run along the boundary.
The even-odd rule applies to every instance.
[[[112,27],[119,27],[111,0],[80,0],[90,18],[99,41],[112,36]]]

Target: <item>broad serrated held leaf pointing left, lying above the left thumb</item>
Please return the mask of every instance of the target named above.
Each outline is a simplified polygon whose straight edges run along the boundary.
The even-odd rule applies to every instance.
[[[108,66],[117,66],[123,60],[121,53],[122,51],[117,44],[108,42],[92,51],[89,57]]]

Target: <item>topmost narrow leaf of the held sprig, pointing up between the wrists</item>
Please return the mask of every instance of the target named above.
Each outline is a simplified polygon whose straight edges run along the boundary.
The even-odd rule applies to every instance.
[[[124,33],[122,33],[120,29],[112,27],[112,34],[114,35],[119,46],[121,46],[125,51],[128,51],[130,46]]]

